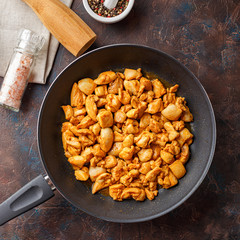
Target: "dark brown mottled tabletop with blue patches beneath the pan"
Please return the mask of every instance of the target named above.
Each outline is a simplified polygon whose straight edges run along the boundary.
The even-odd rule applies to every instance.
[[[0,239],[240,239],[240,3],[237,0],[136,0],[122,22],[90,19],[82,1],[73,9],[97,33],[91,49],[139,43],[185,64],[205,87],[216,115],[217,147],[202,185],[183,205],[158,219],[108,223],[88,216],[58,192],[0,227]],[[44,173],[37,150],[37,116],[49,85],[74,57],[62,46],[44,86],[29,84],[22,109],[0,109],[0,202]],[[0,213],[1,214],[1,213]]]

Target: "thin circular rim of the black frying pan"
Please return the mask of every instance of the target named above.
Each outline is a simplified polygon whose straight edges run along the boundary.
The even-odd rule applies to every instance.
[[[64,191],[62,191],[62,189],[60,189],[58,187],[58,184],[55,182],[55,180],[53,179],[50,171],[47,168],[47,165],[44,161],[43,158],[43,154],[42,154],[42,148],[41,148],[41,143],[40,143],[40,125],[41,125],[41,118],[42,118],[42,114],[44,111],[44,107],[46,104],[46,99],[48,97],[48,95],[51,92],[51,89],[53,88],[53,86],[56,84],[58,78],[73,64],[75,64],[77,61],[79,61],[79,59],[85,58],[86,56],[96,52],[96,51],[101,51],[103,49],[107,49],[107,48],[115,48],[115,47],[137,47],[137,48],[143,48],[143,49],[147,49],[153,52],[157,52],[160,53],[162,55],[165,55],[167,58],[170,58],[171,60],[173,60],[176,64],[180,65],[181,68],[183,68],[189,75],[192,76],[192,78],[194,79],[195,83],[198,85],[199,89],[202,91],[202,94],[204,95],[206,102],[207,102],[207,106],[209,108],[209,113],[210,113],[210,117],[211,117],[211,124],[212,124],[212,143],[211,143],[211,151],[209,153],[209,157],[208,157],[208,162],[203,170],[203,173],[201,175],[201,177],[198,179],[197,183],[195,184],[195,186],[188,192],[188,194],[186,196],[184,196],[178,203],[174,204],[173,206],[171,206],[170,208],[164,210],[161,213],[157,213],[151,216],[147,216],[147,217],[141,217],[141,218],[137,218],[137,219],[119,219],[119,218],[111,218],[111,217],[102,217],[102,216],[98,216],[96,214],[94,214],[93,212],[89,212],[88,210],[79,207],[79,205],[77,205],[74,201],[69,200],[69,198],[67,196],[65,196]],[[159,50],[156,48],[152,48],[146,45],[141,45],[141,44],[131,44],[131,43],[120,43],[120,44],[111,44],[111,45],[106,45],[103,47],[99,47],[96,48],[94,50],[91,50],[83,55],[81,55],[80,57],[76,58],[74,61],[72,61],[69,65],[67,65],[54,79],[54,81],[51,83],[51,85],[49,86],[43,100],[40,106],[40,111],[39,111],[39,115],[38,115],[38,121],[37,121],[37,145],[38,145],[38,152],[40,155],[40,159],[41,162],[43,164],[43,167],[45,169],[45,171],[47,172],[47,175],[49,176],[49,178],[51,179],[52,183],[54,184],[54,186],[56,187],[56,189],[58,190],[58,192],[69,202],[71,203],[73,206],[75,206],[77,209],[91,215],[94,216],[96,218],[99,219],[103,219],[105,221],[109,221],[109,222],[116,222],[116,223],[135,223],[135,222],[144,222],[144,221],[149,221],[155,218],[158,218],[160,216],[163,216],[171,211],[173,211],[174,209],[176,209],[177,207],[179,207],[181,204],[183,204],[188,198],[190,198],[190,196],[192,196],[192,194],[198,189],[198,187],[200,186],[200,184],[203,182],[203,180],[205,179],[209,168],[211,166],[213,157],[214,157],[214,152],[215,152],[215,147],[216,147],[216,139],[217,139],[217,130],[216,130],[216,120],[215,120],[215,115],[214,115],[214,110],[211,104],[211,101],[208,97],[208,94],[206,92],[206,90],[204,89],[204,87],[202,86],[201,82],[198,80],[198,78],[186,67],[184,66],[180,61],[178,61],[176,58],[174,58],[173,56]]]

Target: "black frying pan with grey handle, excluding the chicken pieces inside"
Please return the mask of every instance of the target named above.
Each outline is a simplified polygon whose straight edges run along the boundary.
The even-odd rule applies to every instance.
[[[115,202],[91,189],[74,177],[64,156],[61,124],[64,114],[60,106],[69,104],[74,82],[96,78],[106,70],[139,68],[152,72],[170,84],[180,85],[193,113],[191,124],[195,136],[187,174],[171,189],[159,190],[155,200]],[[74,206],[90,215],[113,222],[140,222],[162,216],[181,205],[198,188],[210,167],[216,143],[214,112],[209,98],[197,78],[173,57],[145,46],[119,44],[93,50],[65,68],[48,90],[38,120],[38,146],[47,172],[38,176],[0,205],[0,224],[52,197],[54,186]],[[48,177],[53,183],[47,183]]]

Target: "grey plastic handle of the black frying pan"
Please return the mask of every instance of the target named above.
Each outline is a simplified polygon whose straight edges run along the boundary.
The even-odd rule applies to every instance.
[[[0,226],[54,196],[48,176],[39,175],[0,204]]]

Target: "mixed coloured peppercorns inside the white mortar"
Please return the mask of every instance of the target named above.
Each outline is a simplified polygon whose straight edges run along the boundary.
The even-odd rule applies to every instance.
[[[117,6],[113,9],[107,9],[103,0],[88,0],[90,8],[99,16],[102,17],[115,17],[121,14],[128,6],[129,0],[119,0]]]

